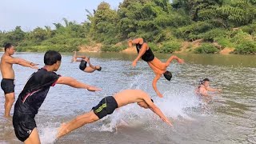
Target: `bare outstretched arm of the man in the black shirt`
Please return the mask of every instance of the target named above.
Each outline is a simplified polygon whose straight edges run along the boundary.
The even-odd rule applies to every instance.
[[[98,87],[86,85],[86,84],[84,84],[82,82],[78,82],[76,79],[70,78],[70,77],[60,77],[60,78],[58,78],[58,81],[56,83],[63,84],[63,85],[68,85],[68,86],[71,86],[71,87],[74,87],[74,88],[79,88],[79,89],[87,89],[89,91],[99,91],[99,90],[101,90]]]

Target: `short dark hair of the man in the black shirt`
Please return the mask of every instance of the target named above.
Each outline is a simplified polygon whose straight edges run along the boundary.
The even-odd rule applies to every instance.
[[[44,56],[44,62],[46,66],[52,66],[54,63],[61,61],[62,55],[55,50],[48,50]]]

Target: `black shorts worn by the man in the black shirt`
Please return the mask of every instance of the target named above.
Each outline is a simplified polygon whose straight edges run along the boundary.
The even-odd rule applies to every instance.
[[[24,142],[30,137],[32,130],[34,130],[36,123],[34,115],[15,113],[13,117],[13,125],[16,137]]]

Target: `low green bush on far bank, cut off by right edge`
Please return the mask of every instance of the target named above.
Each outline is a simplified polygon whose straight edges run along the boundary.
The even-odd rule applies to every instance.
[[[256,54],[256,42],[241,42],[238,46],[235,46],[234,54]]]

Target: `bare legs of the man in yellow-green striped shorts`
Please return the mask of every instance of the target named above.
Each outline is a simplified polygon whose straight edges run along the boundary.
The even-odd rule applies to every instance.
[[[98,119],[98,116],[94,114],[93,110],[91,110],[89,113],[79,115],[70,122],[62,124],[62,126],[59,128],[57,138],[61,138],[62,136],[69,134],[71,131],[86,125],[87,123],[96,122]]]

